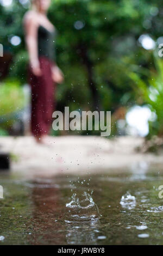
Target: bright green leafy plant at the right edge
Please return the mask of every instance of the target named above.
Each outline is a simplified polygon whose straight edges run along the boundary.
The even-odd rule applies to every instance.
[[[155,70],[146,70],[143,74],[136,72],[129,74],[131,80],[136,84],[135,93],[137,96],[143,103],[147,103],[152,112],[156,114],[155,120],[150,122],[149,137],[163,135],[163,60],[154,57],[154,63]]]

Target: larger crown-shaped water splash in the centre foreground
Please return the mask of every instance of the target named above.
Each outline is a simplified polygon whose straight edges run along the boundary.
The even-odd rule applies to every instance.
[[[99,218],[98,206],[95,204],[92,198],[92,193],[84,192],[82,196],[84,199],[80,200],[77,194],[72,195],[70,203],[66,204],[65,217],[68,220],[85,221],[92,220],[93,218]]]

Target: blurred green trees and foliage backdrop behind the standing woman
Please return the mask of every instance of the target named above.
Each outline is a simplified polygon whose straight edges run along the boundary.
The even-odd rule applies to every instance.
[[[0,0],[1,136],[29,133],[28,54],[22,28],[29,8],[29,0]],[[57,63],[65,74],[57,88],[57,110],[111,111],[110,138],[162,136],[161,2],[52,0],[48,17],[58,31]],[[52,130],[51,135],[62,133]]]

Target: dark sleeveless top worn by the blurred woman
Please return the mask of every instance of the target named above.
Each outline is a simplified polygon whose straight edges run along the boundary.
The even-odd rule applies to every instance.
[[[55,31],[49,31],[43,26],[38,29],[38,54],[50,60],[55,60],[54,48]]]

